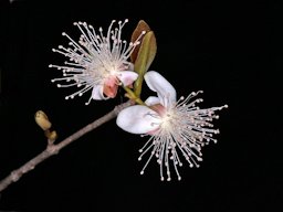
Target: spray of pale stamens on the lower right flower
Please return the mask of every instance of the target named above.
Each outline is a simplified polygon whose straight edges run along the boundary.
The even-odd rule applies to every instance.
[[[217,142],[213,135],[219,134],[219,129],[213,129],[211,121],[219,118],[219,116],[214,115],[214,113],[228,107],[228,105],[206,109],[196,107],[197,104],[202,102],[202,98],[195,100],[191,100],[191,98],[200,93],[202,91],[192,92],[186,98],[181,96],[176,103],[169,103],[169,96],[164,96],[163,99],[165,102],[161,104],[167,105],[165,107],[166,112],[161,115],[158,114],[158,116],[156,113],[150,112],[146,114],[146,116],[148,115],[157,119],[157,121],[150,125],[159,125],[159,127],[139,150],[139,160],[142,160],[153,148],[151,155],[143,168],[143,172],[151,159],[153,153],[157,158],[161,180],[164,180],[164,169],[166,169],[167,181],[171,180],[170,165],[174,166],[178,180],[181,180],[178,167],[181,167],[182,162],[177,151],[185,157],[189,167],[200,167],[199,162],[202,161],[201,147],[211,141]]]

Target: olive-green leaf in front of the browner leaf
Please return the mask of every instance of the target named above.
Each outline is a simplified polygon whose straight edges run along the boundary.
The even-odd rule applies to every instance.
[[[137,97],[140,96],[142,85],[144,81],[144,75],[151,65],[157,51],[156,38],[153,31],[145,34],[137,57],[135,60],[135,72],[138,74],[138,78],[134,84],[134,92]]]

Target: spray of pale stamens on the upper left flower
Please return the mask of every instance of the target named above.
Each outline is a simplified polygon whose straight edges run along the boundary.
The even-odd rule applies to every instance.
[[[116,21],[113,20],[105,35],[102,28],[98,29],[97,34],[94,28],[86,22],[74,22],[73,24],[81,32],[78,41],[74,41],[69,34],[62,32],[62,35],[66,36],[70,41],[69,47],[59,45],[57,49],[52,49],[53,52],[60,53],[69,59],[64,62],[65,65],[49,65],[49,67],[55,67],[63,72],[63,77],[53,78],[52,82],[65,81],[67,83],[74,81],[75,83],[73,82],[71,84],[59,84],[59,87],[74,85],[80,87],[81,85],[85,85],[87,86],[87,91],[90,91],[95,86],[103,86],[104,80],[113,76],[117,77],[120,71],[129,68],[129,65],[127,65],[129,62],[127,60],[144,32],[140,33],[134,44],[127,44],[126,41],[122,40],[122,29],[127,22],[127,19],[124,22],[118,21],[118,28],[114,29]],[[85,92],[86,89],[80,91],[66,98],[82,96]],[[92,97],[86,105],[90,104],[91,99]]]

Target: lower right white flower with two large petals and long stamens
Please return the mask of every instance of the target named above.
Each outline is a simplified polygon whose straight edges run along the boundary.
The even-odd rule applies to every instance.
[[[191,98],[202,93],[201,91],[177,102],[172,85],[154,71],[145,74],[145,81],[151,91],[157,92],[157,97],[147,98],[145,103],[148,106],[135,105],[122,110],[116,120],[117,125],[128,132],[150,136],[139,150],[139,160],[150,152],[140,174],[155,156],[160,167],[161,180],[165,170],[168,181],[171,180],[171,170],[175,170],[180,180],[178,167],[182,162],[179,155],[185,157],[190,167],[199,167],[198,162],[202,160],[201,147],[211,140],[217,142],[212,136],[219,134],[219,130],[213,129],[211,124],[218,118],[214,112],[228,106],[200,109],[196,104],[202,99]]]

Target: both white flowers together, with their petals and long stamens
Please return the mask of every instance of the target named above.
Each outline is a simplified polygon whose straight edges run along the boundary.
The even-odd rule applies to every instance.
[[[69,57],[65,65],[50,65],[62,70],[63,77],[54,78],[57,87],[77,86],[80,89],[65,98],[82,96],[92,91],[91,99],[108,99],[117,94],[118,86],[133,88],[133,83],[138,78],[134,64],[128,61],[130,54],[140,44],[146,31],[142,31],[134,42],[122,40],[124,22],[112,21],[107,33],[98,32],[85,22],[75,22],[82,35],[78,42],[63,32],[70,40],[69,47],[60,45],[53,49]],[[174,86],[158,72],[148,71],[143,75],[147,86],[157,96],[149,96],[142,104],[135,104],[123,109],[116,119],[117,126],[130,134],[149,136],[145,146],[139,150],[139,160],[145,155],[148,159],[140,171],[156,157],[160,168],[160,179],[171,180],[175,171],[178,180],[181,179],[178,168],[182,166],[180,155],[184,156],[189,167],[199,167],[201,148],[210,141],[217,142],[211,121],[219,116],[217,110],[227,105],[211,108],[199,108],[201,98],[196,98],[199,92],[192,92],[187,97],[177,99]],[[60,83],[60,82],[63,82]],[[127,89],[126,89],[127,91]]]

